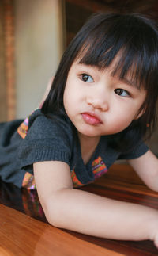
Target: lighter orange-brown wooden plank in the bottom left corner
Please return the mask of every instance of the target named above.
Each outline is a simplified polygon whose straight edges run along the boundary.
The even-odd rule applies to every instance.
[[[0,220],[0,255],[122,255],[2,204]]]

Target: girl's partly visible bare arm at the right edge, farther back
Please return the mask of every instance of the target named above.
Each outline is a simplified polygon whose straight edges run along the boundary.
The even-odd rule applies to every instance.
[[[152,154],[152,151],[149,150],[145,155],[137,159],[129,160],[129,163],[142,181],[144,181],[150,189],[158,192],[158,159]]]

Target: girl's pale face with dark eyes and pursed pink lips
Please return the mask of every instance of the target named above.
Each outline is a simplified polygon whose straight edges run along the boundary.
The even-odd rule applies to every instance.
[[[121,132],[143,114],[139,109],[146,91],[127,79],[112,77],[111,68],[100,70],[79,60],[70,67],[64,107],[81,135],[100,137]]]

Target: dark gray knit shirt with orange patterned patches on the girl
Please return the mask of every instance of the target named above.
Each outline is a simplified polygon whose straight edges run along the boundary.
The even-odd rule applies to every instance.
[[[148,151],[140,140],[137,147],[125,154],[110,147],[107,138],[101,136],[96,151],[85,165],[69,118],[55,115],[47,118],[37,109],[26,120],[0,124],[0,177],[19,188],[35,189],[32,164],[56,160],[70,166],[73,186],[77,187],[105,174],[116,159],[135,159]]]

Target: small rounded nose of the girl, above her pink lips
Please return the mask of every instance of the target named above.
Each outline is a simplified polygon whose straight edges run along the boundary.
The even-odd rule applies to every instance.
[[[92,105],[94,109],[100,109],[101,111],[107,111],[109,109],[109,103],[107,101],[107,97],[103,97],[103,95],[96,96],[88,96],[87,97],[88,105]]]

